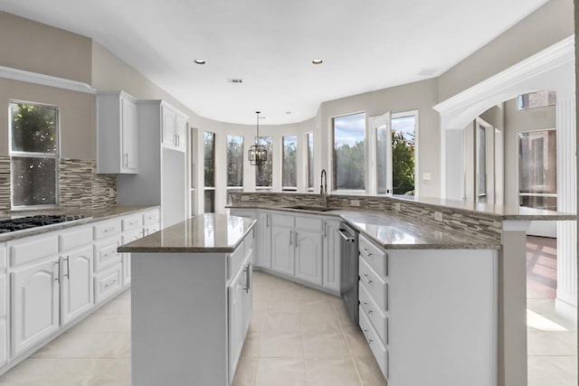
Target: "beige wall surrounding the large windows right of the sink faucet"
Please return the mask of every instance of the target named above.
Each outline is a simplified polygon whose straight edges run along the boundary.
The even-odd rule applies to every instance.
[[[322,103],[318,116],[323,141],[321,152],[323,167],[331,170],[331,147],[327,145],[331,142],[331,118],[356,112],[365,112],[366,118],[369,118],[380,116],[386,111],[398,113],[418,110],[417,142],[420,174],[416,184],[421,196],[438,196],[441,190],[440,124],[438,113],[432,109],[437,102],[437,91],[437,80],[422,80]],[[423,173],[430,173],[431,180],[424,181]],[[331,186],[329,182],[328,186]]]

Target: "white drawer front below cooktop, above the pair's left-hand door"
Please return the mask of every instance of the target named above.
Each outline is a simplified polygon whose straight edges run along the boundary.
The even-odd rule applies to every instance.
[[[43,259],[58,253],[58,237],[55,233],[43,234],[38,237],[25,237],[24,239],[9,243],[10,265],[12,267]]]

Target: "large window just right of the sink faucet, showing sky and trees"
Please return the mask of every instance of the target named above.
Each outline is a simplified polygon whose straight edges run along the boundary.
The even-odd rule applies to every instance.
[[[333,119],[334,190],[365,189],[365,113]]]

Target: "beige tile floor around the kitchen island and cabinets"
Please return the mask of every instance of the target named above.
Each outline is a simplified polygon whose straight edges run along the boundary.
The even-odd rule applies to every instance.
[[[529,291],[529,385],[577,384],[575,325]],[[130,291],[0,377],[0,385],[129,385]],[[167,383],[170,384],[170,383]],[[261,272],[234,384],[385,385],[341,299]]]

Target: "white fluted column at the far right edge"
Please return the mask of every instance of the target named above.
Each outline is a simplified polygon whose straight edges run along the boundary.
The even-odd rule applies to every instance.
[[[575,99],[557,95],[557,211],[576,212]],[[577,224],[557,222],[557,297],[555,312],[576,319]]]

